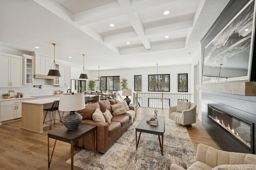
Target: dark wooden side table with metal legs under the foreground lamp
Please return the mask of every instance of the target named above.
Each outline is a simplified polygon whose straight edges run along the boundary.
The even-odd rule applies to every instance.
[[[52,156],[50,158],[50,138],[55,139],[52,155],[53,155],[57,140],[70,143],[71,170],[73,170],[74,169],[74,143],[77,142],[80,138],[83,138],[83,144],[84,144],[84,136],[86,136],[87,134],[90,134],[93,131],[94,131],[94,156],[96,156],[96,129],[97,127],[94,125],[81,124],[75,130],[68,130],[66,127],[62,127],[52,132],[49,132],[48,133],[48,168],[50,168],[50,164],[52,162]]]

